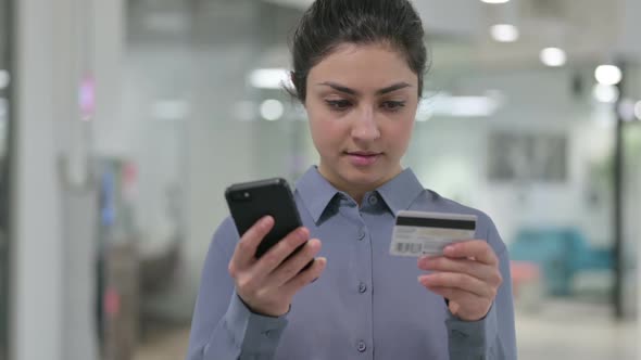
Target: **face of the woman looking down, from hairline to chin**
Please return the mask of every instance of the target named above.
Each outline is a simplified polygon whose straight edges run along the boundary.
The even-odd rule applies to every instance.
[[[312,67],[306,85],[318,169],[329,182],[360,197],[401,172],[418,77],[400,52],[384,44],[342,44]]]

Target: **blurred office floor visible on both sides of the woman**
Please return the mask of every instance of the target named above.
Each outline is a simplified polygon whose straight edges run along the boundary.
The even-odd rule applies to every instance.
[[[637,323],[613,321],[603,305],[552,301],[516,318],[520,360],[637,359]],[[188,329],[158,332],[138,349],[136,360],[184,359],[188,338]]]

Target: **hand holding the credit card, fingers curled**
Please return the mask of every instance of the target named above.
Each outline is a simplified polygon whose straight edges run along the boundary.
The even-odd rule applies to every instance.
[[[503,282],[499,259],[483,240],[449,245],[443,256],[419,258],[418,268],[433,271],[418,282],[447,298],[450,312],[464,321],[483,319]]]

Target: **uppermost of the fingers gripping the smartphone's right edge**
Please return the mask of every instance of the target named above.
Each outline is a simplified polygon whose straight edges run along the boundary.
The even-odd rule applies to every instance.
[[[310,239],[310,231],[305,228],[298,228],[290,232],[265,255],[263,255],[252,268],[255,279],[267,278],[280,263],[287,259],[300,245]]]

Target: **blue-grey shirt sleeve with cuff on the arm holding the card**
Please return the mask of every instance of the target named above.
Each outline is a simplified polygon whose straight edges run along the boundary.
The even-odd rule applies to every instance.
[[[499,247],[497,255],[503,283],[499,287],[494,304],[483,319],[466,322],[450,314],[445,323],[451,360],[517,358],[510,258],[491,220],[487,240],[494,249]]]

